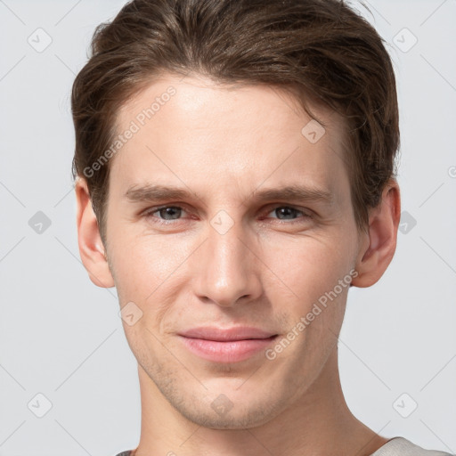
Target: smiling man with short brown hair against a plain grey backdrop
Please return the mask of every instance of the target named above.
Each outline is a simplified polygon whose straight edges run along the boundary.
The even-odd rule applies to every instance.
[[[337,0],[139,0],[73,86],[77,229],[118,290],[141,439],[122,456],[444,455],[349,411],[348,289],[395,253],[395,76]]]

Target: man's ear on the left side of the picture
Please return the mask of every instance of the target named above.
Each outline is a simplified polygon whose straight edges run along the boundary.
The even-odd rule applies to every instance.
[[[105,249],[98,228],[98,222],[92,208],[85,179],[78,177],[75,184],[77,204],[77,244],[79,254],[89,278],[102,288],[114,287]]]

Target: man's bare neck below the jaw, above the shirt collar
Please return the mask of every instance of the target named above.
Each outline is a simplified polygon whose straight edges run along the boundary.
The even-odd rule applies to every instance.
[[[248,429],[204,428],[185,419],[138,367],[141,438],[134,456],[369,456],[387,443],[349,411],[338,375],[337,346],[293,406]]]

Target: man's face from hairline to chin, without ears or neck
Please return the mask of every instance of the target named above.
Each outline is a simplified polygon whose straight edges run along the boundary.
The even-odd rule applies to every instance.
[[[296,406],[335,349],[360,242],[342,126],[314,111],[324,134],[272,87],[168,75],[119,113],[118,133],[139,126],[111,163],[107,212],[120,305],[142,313],[126,338],[150,387],[199,425],[248,428]],[[190,196],[143,199],[146,185]],[[306,192],[263,193],[289,186]],[[252,337],[223,333],[240,327],[264,334],[208,340]]]

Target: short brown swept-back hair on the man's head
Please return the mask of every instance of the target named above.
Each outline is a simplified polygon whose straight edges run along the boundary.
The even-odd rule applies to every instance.
[[[343,0],[133,0],[95,29],[91,51],[72,88],[74,179],[110,147],[120,108],[163,72],[274,85],[308,113],[309,95],[337,111],[360,229],[395,177],[393,65],[375,28]],[[86,178],[103,242],[109,165]]]

